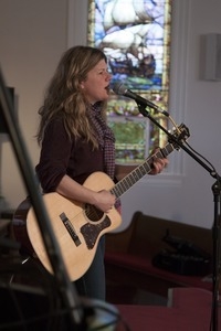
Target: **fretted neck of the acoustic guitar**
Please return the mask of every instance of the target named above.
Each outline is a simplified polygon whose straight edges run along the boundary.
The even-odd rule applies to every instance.
[[[133,170],[129,174],[127,174],[124,179],[122,179],[112,190],[110,192],[119,199],[127,190],[129,190],[136,182],[138,182],[143,177],[148,174],[152,169],[154,159],[157,158],[166,158],[169,153],[173,151],[173,146],[171,143],[167,143],[166,147],[159,149],[156,153],[147,158],[140,166],[138,166],[135,170]]]

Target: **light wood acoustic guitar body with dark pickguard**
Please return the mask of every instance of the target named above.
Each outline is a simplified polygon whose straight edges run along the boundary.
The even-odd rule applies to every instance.
[[[87,178],[84,186],[98,192],[110,190],[114,182],[105,173],[95,172]],[[101,236],[118,227],[122,217],[116,209],[105,214],[92,205],[67,200],[55,192],[44,194],[43,201],[69,277],[71,280],[76,280],[91,266]],[[29,200],[23,201],[14,213],[13,227],[17,239],[21,241],[24,248],[31,253],[33,247],[43,266],[53,273],[34,209]]]

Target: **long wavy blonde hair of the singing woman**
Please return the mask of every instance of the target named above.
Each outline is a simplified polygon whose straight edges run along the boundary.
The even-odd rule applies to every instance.
[[[39,143],[42,142],[45,128],[52,118],[62,117],[70,139],[74,135],[76,138],[91,141],[93,147],[97,148],[97,140],[86,114],[90,105],[81,92],[80,84],[101,60],[107,61],[105,54],[90,46],[74,46],[63,54],[45,90],[43,105],[39,109],[41,115],[36,134]],[[103,103],[104,118],[105,106],[106,103]]]

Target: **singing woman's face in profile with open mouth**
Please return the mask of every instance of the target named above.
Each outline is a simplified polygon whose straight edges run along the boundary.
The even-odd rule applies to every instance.
[[[92,68],[85,81],[81,83],[82,90],[90,104],[108,99],[109,82],[112,75],[107,72],[107,64],[104,60],[99,61]]]

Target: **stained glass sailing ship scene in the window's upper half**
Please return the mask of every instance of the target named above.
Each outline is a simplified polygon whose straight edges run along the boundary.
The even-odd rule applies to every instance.
[[[113,84],[162,90],[168,84],[170,1],[90,1],[88,44],[108,58]]]

